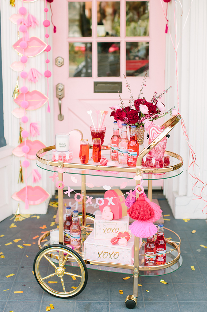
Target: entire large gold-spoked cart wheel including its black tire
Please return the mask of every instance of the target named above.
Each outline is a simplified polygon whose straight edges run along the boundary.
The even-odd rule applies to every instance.
[[[76,251],[67,246],[44,247],[37,253],[33,267],[38,284],[57,298],[75,297],[87,284],[85,262]]]

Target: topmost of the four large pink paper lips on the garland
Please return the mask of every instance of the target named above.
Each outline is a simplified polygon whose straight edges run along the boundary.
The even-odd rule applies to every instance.
[[[13,48],[16,52],[23,55],[23,49],[20,47],[20,42],[22,41],[22,38],[13,44]],[[32,57],[36,56],[40,53],[42,53],[46,47],[48,46],[47,43],[39,39],[38,37],[31,37],[30,40],[27,42],[28,47],[25,49],[25,56]]]

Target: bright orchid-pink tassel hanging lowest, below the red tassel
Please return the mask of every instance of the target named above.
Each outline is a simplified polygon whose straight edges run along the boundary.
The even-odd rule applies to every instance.
[[[129,229],[136,237],[150,237],[157,233],[157,227],[148,221],[136,220],[131,223]]]

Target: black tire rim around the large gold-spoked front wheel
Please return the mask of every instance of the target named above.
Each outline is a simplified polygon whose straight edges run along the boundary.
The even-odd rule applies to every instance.
[[[49,295],[51,295],[51,296],[53,296],[53,297],[56,297],[56,298],[64,299],[64,298],[61,297],[61,296],[53,295],[53,294],[51,294],[49,291],[45,290],[45,288],[39,283],[39,280],[38,280],[38,278],[37,278],[37,276],[36,276],[36,272],[35,272],[35,263],[36,263],[37,257],[38,257],[43,251],[45,251],[46,249],[51,248],[51,246],[52,246],[52,247],[57,247],[57,248],[59,248],[60,246],[61,246],[61,247],[64,247],[64,249],[67,249],[68,251],[70,251],[71,253],[73,253],[74,255],[76,255],[76,257],[81,261],[81,264],[83,265],[83,268],[84,268],[84,271],[85,271],[85,281],[84,281],[84,284],[83,284],[81,290],[79,290],[79,292],[77,292],[75,295],[69,295],[69,296],[64,297],[64,298],[66,299],[66,298],[76,297],[77,295],[79,295],[79,294],[84,290],[84,288],[85,288],[85,286],[86,286],[86,284],[87,284],[87,281],[88,281],[88,270],[87,270],[87,267],[86,267],[86,265],[85,265],[85,262],[83,261],[83,259],[81,258],[81,256],[79,256],[79,254],[78,254],[75,250],[73,250],[72,248],[70,248],[70,247],[63,246],[63,245],[58,245],[58,244],[57,244],[57,245],[54,244],[54,245],[49,245],[49,246],[45,246],[44,248],[42,248],[42,249],[36,254],[36,256],[35,256],[35,258],[34,258],[34,263],[33,263],[34,277],[35,277],[36,281],[38,282],[39,286],[40,286],[44,291],[46,291]]]

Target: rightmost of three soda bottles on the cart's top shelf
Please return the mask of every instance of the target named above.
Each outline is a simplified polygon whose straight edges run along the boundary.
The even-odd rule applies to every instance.
[[[136,167],[137,155],[139,155],[139,143],[136,138],[136,126],[131,126],[131,134],[127,151],[127,165],[129,167]]]

